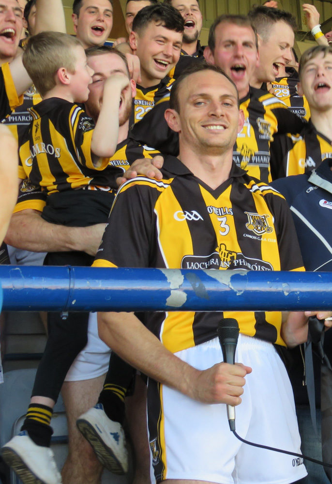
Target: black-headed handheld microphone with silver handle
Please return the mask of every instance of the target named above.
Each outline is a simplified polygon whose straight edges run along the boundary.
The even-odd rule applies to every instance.
[[[235,350],[239,338],[239,324],[236,319],[224,318],[218,323],[217,333],[224,362],[233,365],[235,363]],[[227,405],[227,418],[229,428],[235,430],[235,407]]]

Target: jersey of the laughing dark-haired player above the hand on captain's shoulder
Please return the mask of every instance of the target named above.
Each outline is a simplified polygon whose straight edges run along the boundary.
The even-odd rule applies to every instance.
[[[158,85],[144,88],[139,84],[136,85],[136,96],[133,99],[134,109],[132,112],[130,124],[141,121],[147,112],[165,96],[169,94],[171,86],[175,79],[166,76]]]

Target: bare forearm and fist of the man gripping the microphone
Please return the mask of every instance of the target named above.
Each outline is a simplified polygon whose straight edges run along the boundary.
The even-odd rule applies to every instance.
[[[168,351],[129,312],[98,313],[98,332],[122,359],[167,387],[202,403],[241,403],[249,367],[218,363],[199,371]]]

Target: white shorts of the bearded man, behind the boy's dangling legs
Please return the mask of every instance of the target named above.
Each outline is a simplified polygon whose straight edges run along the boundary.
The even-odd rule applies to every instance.
[[[91,380],[108,370],[111,350],[98,336],[97,313],[89,314],[88,343],[76,356],[65,381]]]

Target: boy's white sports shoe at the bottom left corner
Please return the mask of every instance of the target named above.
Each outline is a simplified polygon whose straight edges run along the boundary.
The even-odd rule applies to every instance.
[[[62,484],[53,452],[36,445],[26,430],[2,447],[2,457],[23,484]]]

